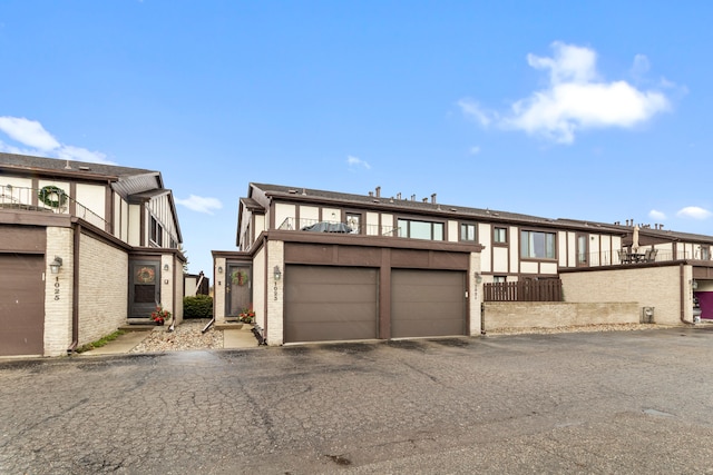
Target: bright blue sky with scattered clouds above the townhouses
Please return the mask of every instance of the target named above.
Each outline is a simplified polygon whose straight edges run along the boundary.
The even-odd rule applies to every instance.
[[[713,3],[2,0],[0,150],[712,235]]]

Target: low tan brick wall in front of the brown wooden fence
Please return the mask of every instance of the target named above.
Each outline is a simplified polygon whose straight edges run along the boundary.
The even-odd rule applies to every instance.
[[[485,304],[485,329],[557,328],[595,324],[637,324],[638,304],[489,301]]]

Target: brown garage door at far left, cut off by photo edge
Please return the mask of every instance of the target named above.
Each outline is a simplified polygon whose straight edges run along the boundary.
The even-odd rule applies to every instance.
[[[0,254],[0,356],[45,350],[45,256]]]

